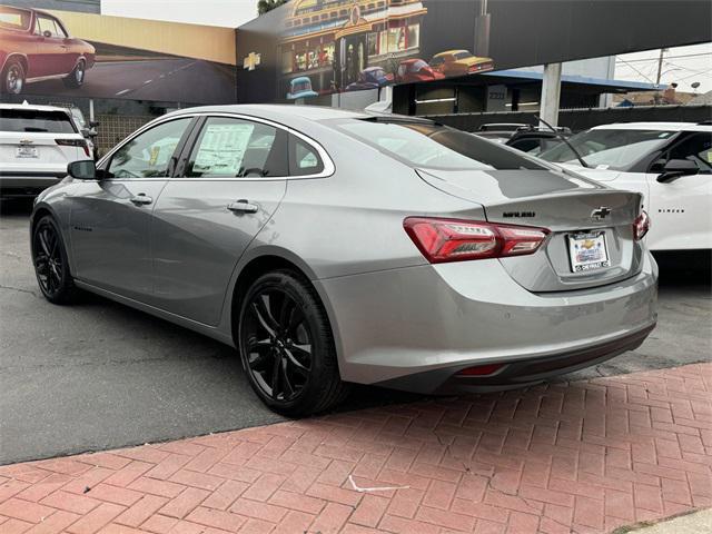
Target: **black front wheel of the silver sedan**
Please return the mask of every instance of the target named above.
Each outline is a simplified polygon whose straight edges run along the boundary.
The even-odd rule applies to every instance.
[[[59,226],[46,215],[32,230],[32,264],[40,290],[52,304],[70,304],[77,298],[77,287],[69,274],[67,250]]]

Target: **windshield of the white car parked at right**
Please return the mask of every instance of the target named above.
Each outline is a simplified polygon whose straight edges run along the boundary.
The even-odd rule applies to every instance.
[[[589,130],[571,137],[568,142],[592,167],[625,170],[673,134],[666,130]],[[557,164],[578,164],[566,144],[543,151],[540,158]]]

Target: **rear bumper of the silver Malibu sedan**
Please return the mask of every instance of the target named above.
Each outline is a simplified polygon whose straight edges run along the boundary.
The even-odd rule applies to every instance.
[[[602,362],[654,327],[657,266],[590,289],[535,294],[496,260],[424,265],[316,281],[342,378],[451,393],[507,388]],[[455,375],[506,364],[487,377]],[[478,387],[481,386],[481,387]]]

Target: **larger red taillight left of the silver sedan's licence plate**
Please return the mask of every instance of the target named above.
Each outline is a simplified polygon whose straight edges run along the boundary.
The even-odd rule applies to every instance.
[[[431,217],[408,217],[403,226],[431,264],[534,254],[548,235],[546,228]]]

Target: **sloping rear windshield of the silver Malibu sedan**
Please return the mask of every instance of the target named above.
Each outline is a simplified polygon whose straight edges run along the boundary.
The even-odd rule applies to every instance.
[[[406,165],[443,170],[547,169],[518,151],[432,122],[340,120],[336,128]]]

